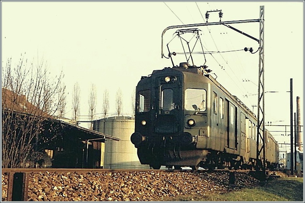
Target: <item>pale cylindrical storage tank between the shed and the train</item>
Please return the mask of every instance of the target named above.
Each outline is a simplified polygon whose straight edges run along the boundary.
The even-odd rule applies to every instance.
[[[137,149],[130,141],[130,135],[134,132],[133,117],[114,116],[94,120],[93,129],[120,139],[105,140],[104,168],[149,169],[148,165],[140,163]]]

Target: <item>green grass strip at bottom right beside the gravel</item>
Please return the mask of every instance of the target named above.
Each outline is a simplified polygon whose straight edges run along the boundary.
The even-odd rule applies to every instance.
[[[302,201],[303,177],[267,181],[264,186],[244,188],[224,194],[208,193],[168,197],[164,201]]]

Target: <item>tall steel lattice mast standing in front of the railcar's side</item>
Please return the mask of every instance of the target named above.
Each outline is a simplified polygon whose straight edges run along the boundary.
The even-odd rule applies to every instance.
[[[262,170],[265,171],[265,88],[264,88],[264,6],[259,7],[259,85],[257,102],[257,139],[256,169],[259,169],[259,157],[263,159]],[[259,147],[259,139],[262,146]],[[263,156],[261,152],[263,151]]]

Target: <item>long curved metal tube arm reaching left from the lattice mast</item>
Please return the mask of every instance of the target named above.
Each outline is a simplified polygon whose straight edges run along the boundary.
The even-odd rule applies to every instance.
[[[196,27],[196,26],[208,26],[208,25],[223,25],[223,24],[235,24],[235,23],[246,23],[246,22],[259,22],[260,19],[253,20],[239,20],[239,21],[224,21],[224,22],[207,22],[207,23],[198,23],[198,24],[188,24],[188,25],[178,25],[178,26],[169,26],[165,28],[161,35],[161,58],[163,58],[163,35],[169,29],[175,28],[184,28],[184,27]]]

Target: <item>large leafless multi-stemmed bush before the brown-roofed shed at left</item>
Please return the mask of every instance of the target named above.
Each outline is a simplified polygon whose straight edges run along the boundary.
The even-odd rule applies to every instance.
[[[21,168],[29,160],[46,123],[59,106],[62,73],[51,77],[47,65],[28,64],[21,55],[2,64],[2,168]]]

